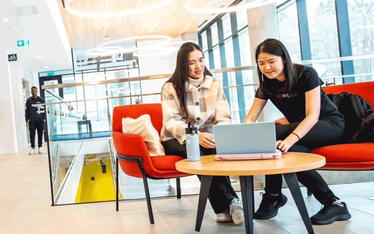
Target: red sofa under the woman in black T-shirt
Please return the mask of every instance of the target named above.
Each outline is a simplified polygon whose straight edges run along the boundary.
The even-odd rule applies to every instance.
[[[374,81],[322,87],[327,94],[343,91],[358,94],[374,107]],[[286,118],[275,121],[276,125],[288,124]],[[326,158],[326,165],[318,170],[373,170],[374,143],[355,143],[326,146],[311,153]]]

